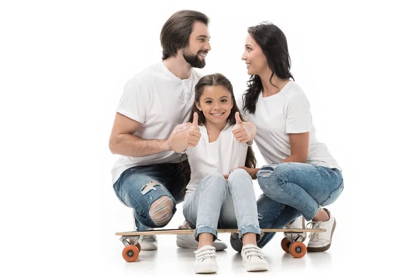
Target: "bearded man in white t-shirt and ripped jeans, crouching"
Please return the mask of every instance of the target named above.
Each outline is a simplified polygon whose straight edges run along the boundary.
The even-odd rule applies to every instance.
[[[114,191],[133,208],[137,231],[166,226],[183,201],[190,169],[184,155],[171,149],[171,139],[183,132],[193,105],[195,85],[211,50],[209,19],[201,12],[181,10],[160,34],[162,62],[130,79],[116,108],[110,150],[120,159],[112,169]],[[189,228],[186,223],[182,228]],[[139,240],[142,250],[156,250],[155,235]],[[198,247],[193,235],[177,235],[177,246]],[[227,248],[219,240],[217,250]]]

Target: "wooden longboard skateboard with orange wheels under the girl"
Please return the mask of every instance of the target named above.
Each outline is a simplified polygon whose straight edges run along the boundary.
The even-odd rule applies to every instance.
[[[265,233],[295,233],[293,240],[283,238],[281,240],[281,249],[286,253],[290,253],[294,258],[302,258],[306,254],[306,246],[303,241],[306,239],[302,233],[306,232],[326,232],[326,229],[263,229]],[[123,258],[127,262],[134,262],[139,258],[140,235],[184,235],[193,234],[195,229],[161,229],[151,231],[139,231],[139,232],[119,232],[116,235],[121,235],[120,241],[124,244],[122,252]],[[218,233],[238,233],[238,229],[218,229]]]

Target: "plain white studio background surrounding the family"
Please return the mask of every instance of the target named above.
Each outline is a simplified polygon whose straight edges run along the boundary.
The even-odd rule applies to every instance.
[[[329,207],[338,222],[333,247],[293,263],[281,258],[277,235],[265,247],[268,274],[410,267],[415,230],[404,229],[414,226],[416,184],[410,2],[1,1],[1,275],[192,274],[193,253],[177,250],[174,236],[159,236],[159,257],[148,256],[147,265],[121,258],[114,233],[132,230],[132,217],[112,191],[116,156],[107,147],[125,82],[160,60],[160,30],[182,9],[210,17],[212,50],[200,72],[223,73],[236,95],[248,80],[241,61],[247,27],[266,20],[279,26],[318,139],[344,170],[344,193]],[[264,164],[258,152],[257,159]],[[182,220],[179,205],[167,227]],[[228,249],[218,260],[232,257],[231,265],[241,267],[235,255]]]

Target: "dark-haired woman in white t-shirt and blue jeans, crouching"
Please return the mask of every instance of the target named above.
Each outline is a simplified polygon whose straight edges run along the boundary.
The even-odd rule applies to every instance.
[[[261,169],[244,168],[253,179],[257,177],[263,190],[257,201],[260,227],[302,228],[302,215],[311,221],[311,229],[327,229],[309,235],[308,251],[326,251],[336,221],[322,206],[342,193],[343,175],[327,146],[315,136],[309,101],[290,72],[284,33],[270,23],[248,28],[241,59],[251,77],[236,102],[243,117],[256,125],[254,141],[269,163]],[[274,235],[266,233],[259,247]],[[239,251],[236,241],[232,235],[232,246]]]

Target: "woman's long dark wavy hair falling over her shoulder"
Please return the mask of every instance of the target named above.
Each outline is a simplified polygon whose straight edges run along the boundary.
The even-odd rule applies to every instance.
[[[274,24],[270,22],[262,22],[257,26],[248,28],[248,33],[252,36],[254,41],[259,44],[261,51],[266,56],[268,67],[272,70],[270,75],[270,84],[272,83],[273,75],[281,79],[295,80],[290,71],[291,56],[288,51],[288,43],[284,33]],[[248,89],[243,94],[243,110],[254,114],[256,112],[257,100],[263,85],[259,75],[252,75],[247,82]]]

